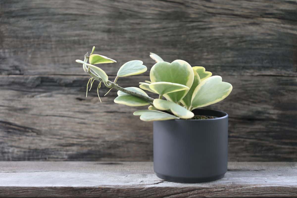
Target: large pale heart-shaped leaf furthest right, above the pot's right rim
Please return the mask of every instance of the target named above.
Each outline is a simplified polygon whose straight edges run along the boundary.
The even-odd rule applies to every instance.
[[[194,90],[191,106],[205,107],[225,99],[232,91],[232,85],[222,82],[222,77],[212,76],[203,80]]]

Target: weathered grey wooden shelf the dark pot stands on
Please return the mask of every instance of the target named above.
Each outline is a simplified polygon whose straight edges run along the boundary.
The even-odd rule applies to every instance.
[[[205,183],[157,178],[152,162],[0,162],[0,197],[296,197],[296,162],[229,162]]]

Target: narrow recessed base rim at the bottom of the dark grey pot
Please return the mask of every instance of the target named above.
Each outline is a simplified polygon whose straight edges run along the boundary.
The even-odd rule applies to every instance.
[[[167,175],[162,175],[156,173],[157,177],[166,181],[171,182],[178,182],[178,183],[200,183],[200,182],[206,182],[206,181],[213,181],[222,179],[225,176],[225,173],[222,175],[216,175],[212,177],[205,177],[205,178],[181,178],[181,177],[171,177]]]

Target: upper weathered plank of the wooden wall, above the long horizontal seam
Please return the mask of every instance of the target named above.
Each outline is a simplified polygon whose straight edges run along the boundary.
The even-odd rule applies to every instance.
[[[217,74],[296,76],[297,3],[261,1],[0,2],[1,74],[81,74],[74,61],[93,45],[126,61],[149,52]]]

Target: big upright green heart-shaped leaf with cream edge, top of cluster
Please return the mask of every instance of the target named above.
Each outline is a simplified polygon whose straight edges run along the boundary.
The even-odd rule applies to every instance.
[[[183,60],[175,60],[172,63],[158,62],[151,68],[150,78],[152,83],[170,82],[191,87],[194,80],[194,72],[189,63]],[[164,94],[169,101],[179,102],[189,90]]]

